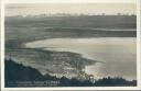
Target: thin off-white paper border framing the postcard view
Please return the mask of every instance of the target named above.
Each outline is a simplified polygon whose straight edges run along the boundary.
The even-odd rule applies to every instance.
[[[74,0],[73,0],[74,1]],[[76,0],[73,3],[80,0]],[[83,0],[83,3],[93,3],[91,0]],[[45,3],[72,3],[64,0],[48,0]],[[137,0],[137,87],[56,87],[56,88],[4,88],[4,0],[1,1],[1,90],[141,90],[141,1]],[[130,69],[129,69],[130,70]]]

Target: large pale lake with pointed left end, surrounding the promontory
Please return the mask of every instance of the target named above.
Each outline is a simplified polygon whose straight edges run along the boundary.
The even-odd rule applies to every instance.
[[[123,77],[137,79],[135,37],[51,38],[30,42],[29,48],[72,52],[83,57],[102,61],[86,66],[85,71],[96,78]]]

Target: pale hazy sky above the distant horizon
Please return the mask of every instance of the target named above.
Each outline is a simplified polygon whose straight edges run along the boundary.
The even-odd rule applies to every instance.
[[[135,13],[134,3],[10,3],[6,15],[35,15],[48,13]]]

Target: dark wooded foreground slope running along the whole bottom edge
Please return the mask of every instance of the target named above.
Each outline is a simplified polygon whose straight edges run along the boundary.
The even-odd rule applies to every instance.
[[[137,81],[128,81],[122,78],[104,78],[91,80],[56,78],[50,75],[41,75],[39,70],[15,64],[12,59],[4,60],[6,87],[127,87],[137,86]]]

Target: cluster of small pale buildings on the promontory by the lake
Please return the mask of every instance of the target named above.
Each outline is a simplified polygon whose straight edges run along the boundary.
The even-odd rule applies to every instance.
[[[69,78],[69,79],[77,78],[78,80],[90,80],[91,82],[95,82],[94,75],[87,75],[85,71],[78,70],[75,67],[70,67],[68,64],[65,64],[64,66],[63,65],[58,65],[58,66],[59,67],[55,66],[55,68],[59,68],[59,69],[57,69],[59,71],[51,73],[52,76],[55,76],[55,77],[58,77],[58,78],[66,77],[66,78]]]

